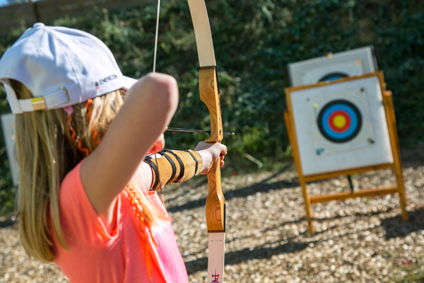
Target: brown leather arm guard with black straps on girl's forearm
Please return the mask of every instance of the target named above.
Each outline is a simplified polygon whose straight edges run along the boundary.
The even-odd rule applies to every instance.
[[[160,151],[161,158],[146,156],[144,162],[152,169],[152,185],[150,190],[158,190],[169,183],[181,183],[199,174],[203,166],[200,154],[191,149],[187,151]],[[158,162],[158,166],[156,166]]]

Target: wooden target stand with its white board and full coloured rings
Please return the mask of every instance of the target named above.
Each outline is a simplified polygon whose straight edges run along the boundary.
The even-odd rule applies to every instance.
[[[354,197],[397,193],[408,221],[393,100],[382,71],[285,88],[285,98],[285,126],[310,232],[315,231],[312,204]],[[395,185],[328,195],[307,190],[316,180],[386,168]]]

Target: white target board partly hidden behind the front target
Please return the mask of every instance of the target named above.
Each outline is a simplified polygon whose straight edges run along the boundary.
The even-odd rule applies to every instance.
[[[377,71],[377,64],[372,47],[358,48],[288,64],[292,86],[334,81],[374,71]]]

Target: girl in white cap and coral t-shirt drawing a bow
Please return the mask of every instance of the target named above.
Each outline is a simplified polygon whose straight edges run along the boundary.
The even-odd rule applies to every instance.
[[[222,166],[226,147],[146,157],[164,147],[175,79],[129,79],[98,38],[37,23],[1,57],[0,81],[16,114],[28,255],[54,261],[71,282],[188,282],[154,189],[206,174],[217,158]]]

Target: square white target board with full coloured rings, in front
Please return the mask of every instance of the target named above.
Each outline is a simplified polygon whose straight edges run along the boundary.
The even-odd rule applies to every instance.
[[[377,75],[293,88],[290,100],[303,175],[393,163]]]

